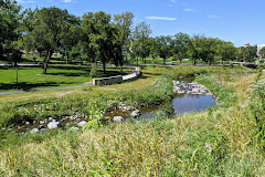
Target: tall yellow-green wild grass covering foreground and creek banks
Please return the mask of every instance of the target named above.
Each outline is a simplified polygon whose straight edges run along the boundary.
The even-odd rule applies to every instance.
[[[72,95],[72,100],[70,95],[60,100],[77,104],[76,97],[81,95],[81,101],[84,97],[119,95],[123,90],[139,86],[135,90],[137,97],[157,85],[161,73],[176,77],[215,72],[215,75],[203,75],[198,80],[219,97],[220,104],[202,113],[183,114],[176,118],[160,112],[152,119],[108,124],[86,131],[52,131],[20,137],[8,134],[10,137],[4,139],[7,146],[0,150],[0,174],[264,176],[264,152],[254,138],[256,119],[244,102],[247,100],[245,91],[255,82],[256,74],[244,69],[220,67],[148,67],[144,72],[146,77],[131,83],[81,90]],[[146,81],[148,84],[145,84]],[[237,104],[241,102],[246,106]]]

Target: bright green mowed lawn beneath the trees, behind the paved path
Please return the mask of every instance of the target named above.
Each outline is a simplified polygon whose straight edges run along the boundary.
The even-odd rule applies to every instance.
[[[91,82],[91,66],[76,65],[53,65],[47,69],[47,74],[42,74],[41,67],[19,67],[19,90],[43,88],[54,86],[68,86]],[[123,74],[117,70],[107,69],[97,71],[96,77]],[[17,88],[15,69],[0,69],[0,92],[13,91]]]

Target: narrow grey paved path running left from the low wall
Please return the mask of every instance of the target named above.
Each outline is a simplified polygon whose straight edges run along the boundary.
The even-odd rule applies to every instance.
[[[8,92],[0,92],[0,95],[13,95],[13,94],[18,94],[18,93],[29,93],[29,92],[38,92],[38,91],[54,91],[54,90],[74,88],[74,87],[82,87],[82,86],[88,86],[88,85],[93,85],[93,83],[88,82],[88,83],[81,84],[81,85],[35,88],[35,90],[26,90],[26,91],[8,91]]]

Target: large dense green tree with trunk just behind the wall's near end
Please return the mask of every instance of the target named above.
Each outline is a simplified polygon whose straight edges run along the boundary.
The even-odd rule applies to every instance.
[[[106,63],[118,58],[117,54],[121,54],[121,51],[117,52],[121,48],[115,42],[118,30],[110,23],[110,14],[98,11],[94,14],[92,12],[84,14],[82,20],[84,51],[93,62],[102,62],[104,73],[106,73]]]

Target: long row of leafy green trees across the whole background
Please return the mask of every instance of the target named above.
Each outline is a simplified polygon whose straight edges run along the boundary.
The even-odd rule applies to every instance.
[[[18,63],[22,50],[38,52],[43,59],[43,74],[54,52],[68,59],[124,65],[124,53],[139,59],[191,59],[212,64],[214,61],[254,61],[254,46],[237,49],[233,43],[203,35],[151,37],[151,28],[140,22],[132,28],[134,14],[124,12],[113,17],[106,12],[87,12],[82,17],[56,7],[26,9],[15,1],[0,0],[0,58]],[[127,55],[126,55],[127,58]]]

